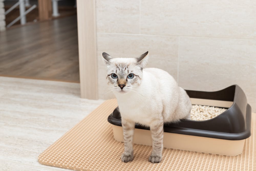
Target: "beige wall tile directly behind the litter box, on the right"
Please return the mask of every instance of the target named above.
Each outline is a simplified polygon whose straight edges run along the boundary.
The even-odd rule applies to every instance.
[[[256,111],[256,40],[180,38],[178,83],[213,91],[238,84]]]

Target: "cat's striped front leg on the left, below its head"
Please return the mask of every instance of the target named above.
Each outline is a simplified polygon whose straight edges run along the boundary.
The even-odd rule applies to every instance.
[[[133,132],[135,123],[127,121],[122,118],[122,127],[124,135],[124,153],[121,156],[122,162],[129,162],[133,160]]]

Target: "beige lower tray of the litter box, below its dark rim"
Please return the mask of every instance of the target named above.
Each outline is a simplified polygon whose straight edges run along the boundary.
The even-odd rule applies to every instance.
[[[113,125],[114,139],[123,142],[123,129]],[[242,154],[245,140],[222,140],[202,136],[192,136],[164,132],[164,148],[188,150],[208,154],[236,156]],[[200,142],[200,143],[198,143]],[[133,143],[152,145],[150,130],[134,130]]]

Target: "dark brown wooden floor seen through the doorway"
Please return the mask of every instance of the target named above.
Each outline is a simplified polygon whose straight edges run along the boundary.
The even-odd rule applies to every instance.
[[[79,82],[77,17],[0,32],[0,75]]]

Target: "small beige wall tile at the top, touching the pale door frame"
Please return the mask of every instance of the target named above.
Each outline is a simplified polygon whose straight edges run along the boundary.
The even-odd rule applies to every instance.
[[[96,0],[97,32],[139,33],[140,1]]]

